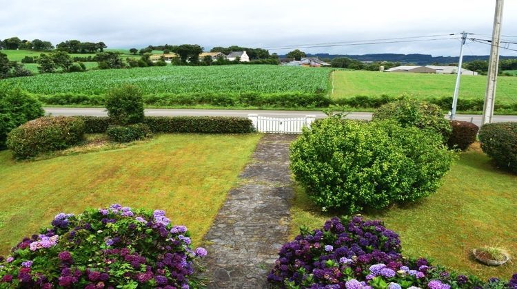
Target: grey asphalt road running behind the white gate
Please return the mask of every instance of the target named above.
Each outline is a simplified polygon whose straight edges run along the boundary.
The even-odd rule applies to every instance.
[[[107,116],[103,108],[82,107],[45,107],[47,114],[53,116]],[[232,109],[145,109],[146,116],[243,116],[258,114],[276,118],[297,118],[314,115],[316,118],[324,118],[321,111],[290,111],[290,110],[232,110]],[[347,118],[369,120],[371,112],[352,112]],[[457,120],[465,120],[481,125],[481,116],[474,114],[459,114]],[[494,122],[517,121],[517,116],[494,116]]]

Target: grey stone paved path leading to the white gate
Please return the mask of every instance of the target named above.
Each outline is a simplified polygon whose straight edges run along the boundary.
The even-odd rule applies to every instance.
[[[267,288],[266,277],[287,242],[289,144],[296,136],[266,134],[205,236],[208,288]]]

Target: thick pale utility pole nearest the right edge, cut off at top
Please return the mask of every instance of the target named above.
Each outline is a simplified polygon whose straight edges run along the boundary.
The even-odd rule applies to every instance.
[[[503,21],[504,0],[496,0],[496,14],[494,15],[494,30],[490,48],[490,60],[488,63],[487,89],[485,91],[485,104],[483,105],[483,125],[492,121],[494,115],[494,103],[496,100],[497,73],[499,69],[499,44],[501,38],[501,21]]]

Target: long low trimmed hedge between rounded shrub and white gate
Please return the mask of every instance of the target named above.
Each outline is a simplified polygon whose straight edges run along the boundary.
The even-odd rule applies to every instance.
[[[252,121],[225,116],[147,116],[151,131],[161,133],[250,133]]]

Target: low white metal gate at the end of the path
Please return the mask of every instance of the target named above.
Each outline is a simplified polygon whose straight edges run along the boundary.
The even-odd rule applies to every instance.
[[[271,118],[249,114],[256,131],[263,133],[301,133],[303,127],[310,127],[316,116],[305,116],[303,118]]]

